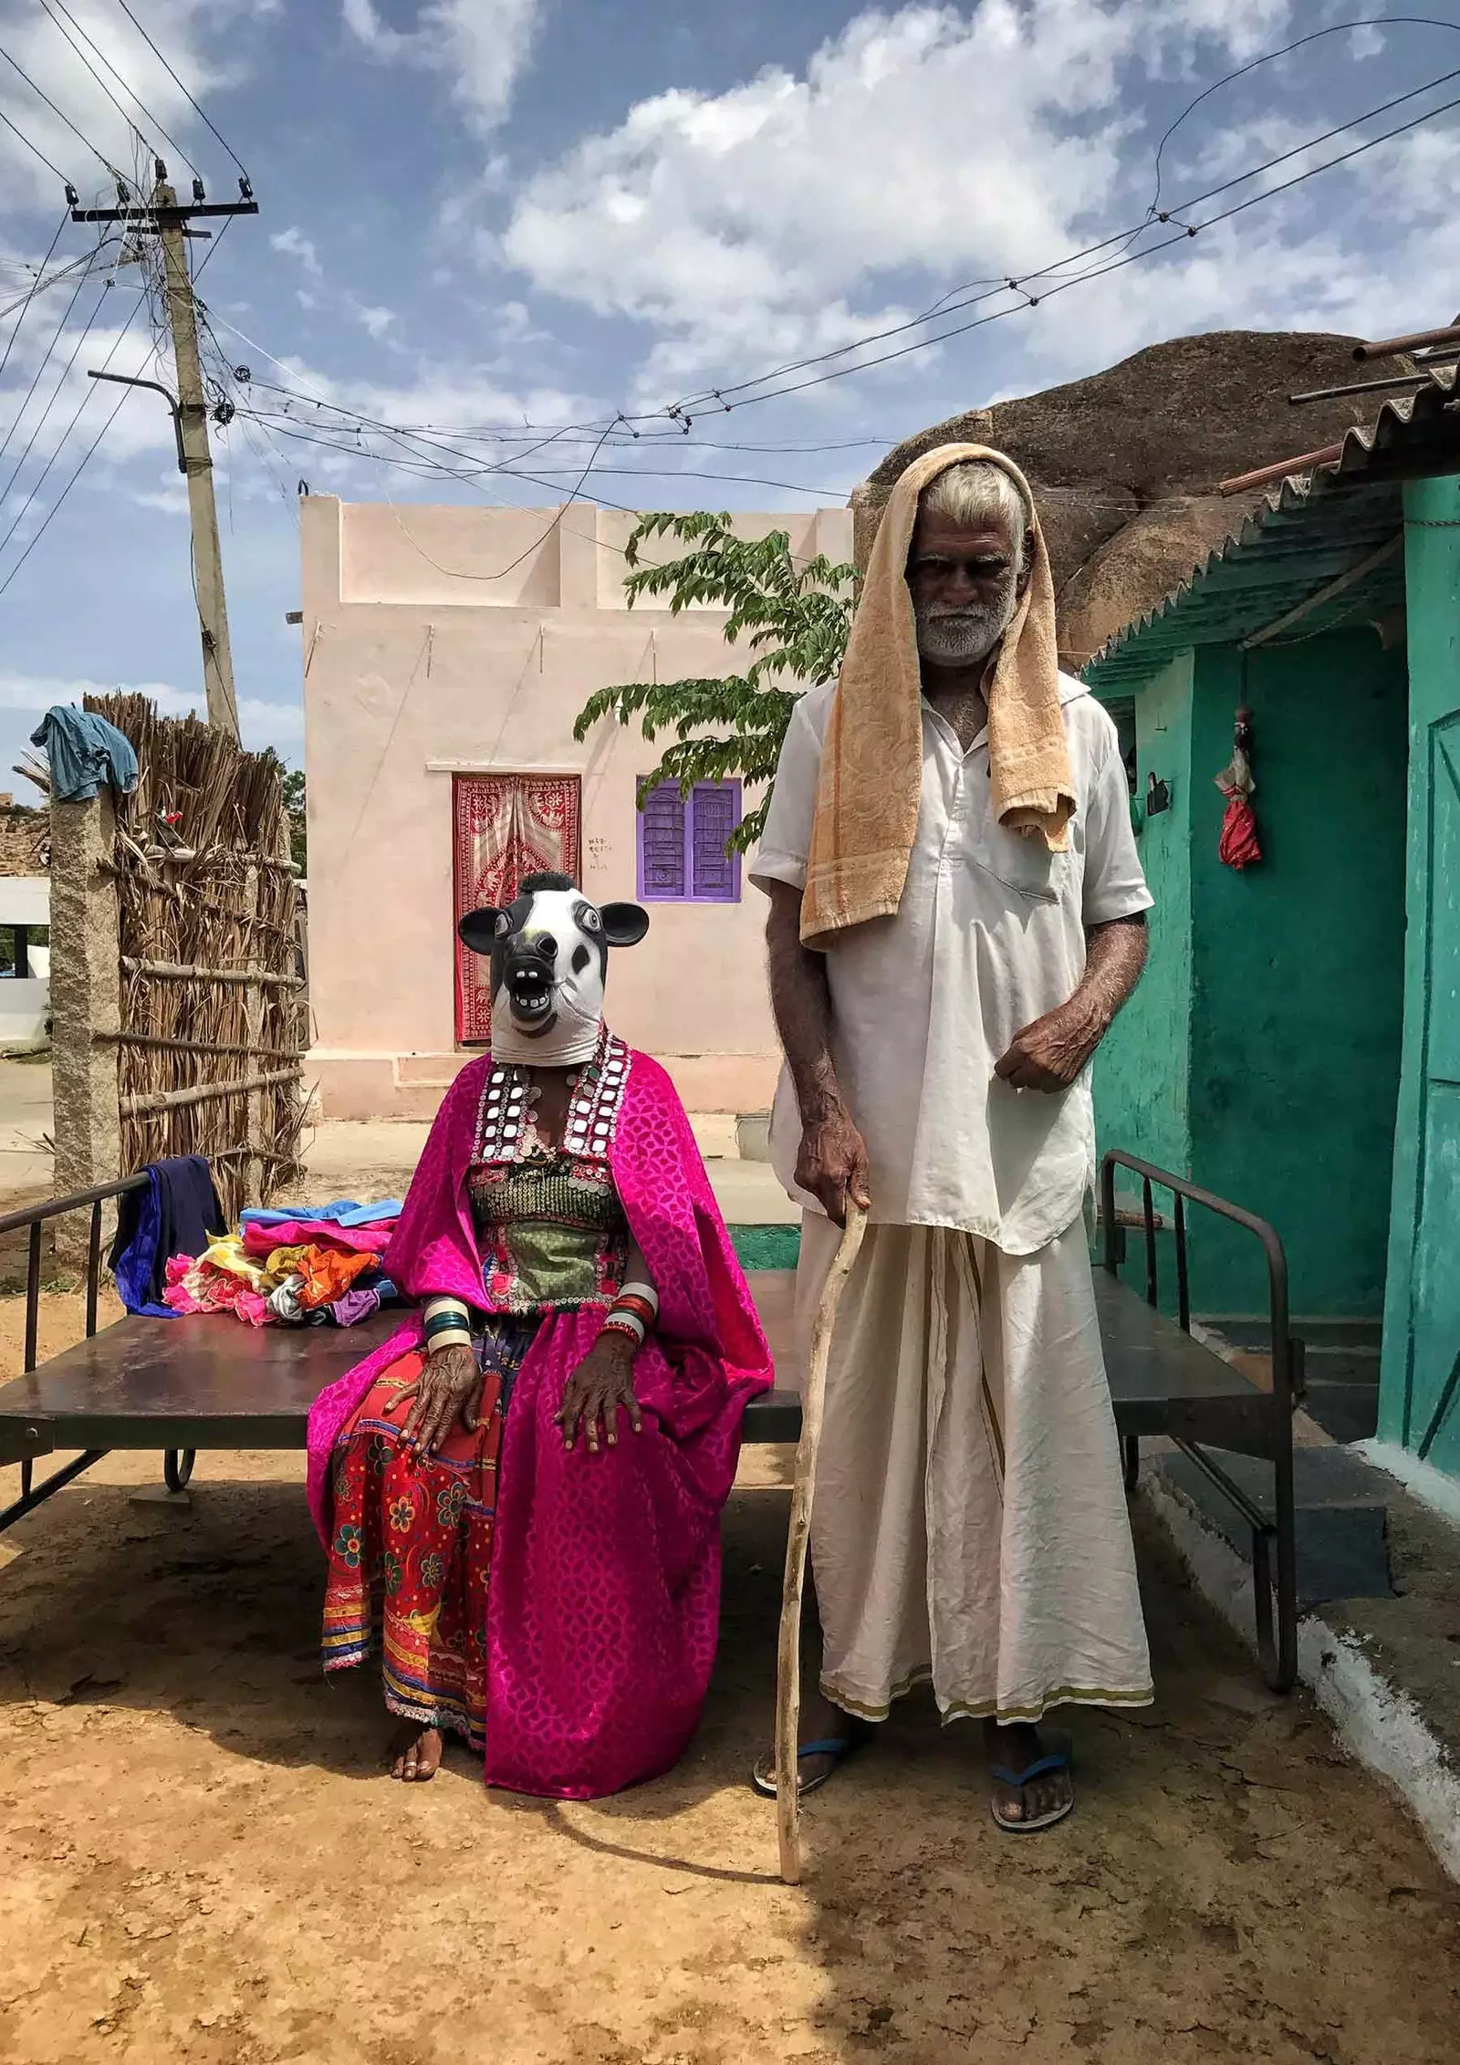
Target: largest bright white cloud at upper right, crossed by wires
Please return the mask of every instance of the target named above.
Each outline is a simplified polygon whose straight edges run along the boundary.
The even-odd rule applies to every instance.
[[[772,66],[723,93],[673,89],[638,101],[617,128],[531,178],[500,237],[479,242],[479,260],[506,262],[599,316],[644,324],[636,403],[657,405],[727,374],[836,349],[907,320],[954,283],[1028,273],[1138,221],[1156,134],[1138,116],[1150,99],[1140,89],[1210,78],[1295,27],[1301,14],[1289,0],[979,0],[863,12],[799,74]],[[1179,132],[1167,151],[1167,196],[1326,126],[1307,105],[1299,120],[1309,114],[1301,130],[1291,118],[1243,126],[1229,116],[1198,124],[1189,140]],[[1425,140],[1446,157],[1439,132]],[[1369,196],[1382,161],[1363,161]],[[1196,180],[1202,163],[1210,173]],[[1392,244],[1392,260],[1367,268],[1371,285],[1392,281],[1415,256],[1406,231],[1425,204],[1415,178],[1408,215],[1386,217],[1365,246],[1336,204],[1351,192],[1344,178],[1051,297],[1047,310],[1014,318],[1020,341],[1041,374],[1059,376],[1210,322],[1291,324],[1299,308],[1353,318],[1359,254]],[[1309,200],[1320,192],[1322,204]],[[1431,254],[1431,271],[1437,262]],[[909,363],[927,368],[929,357]]]

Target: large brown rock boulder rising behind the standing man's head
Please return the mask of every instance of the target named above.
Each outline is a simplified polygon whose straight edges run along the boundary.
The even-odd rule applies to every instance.
[[[1305,330],[1175,337],[1088,380],[933,423],[853,491],[857,566],[867,564],[892,483],[913,458],[935,444],[995,444],[1035,489],[1059,657],[1078,669],[1179,586],[1260,500],[1223,498],[1218,481],[1336,444],[1382,401],[1353,394],[1295,409],[1289,394],[1413,370],[1408,359],[1359,368],[1355,343]]]

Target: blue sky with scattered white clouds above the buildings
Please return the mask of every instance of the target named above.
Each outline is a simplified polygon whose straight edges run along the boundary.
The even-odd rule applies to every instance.
[[[54,702],[202,692],[167,409],[87,380],[171,382],[157,310],[62,180],[252,184],[192,252],[244,743],[291,762],[306,481],[805,510],[1167,337],[1460,312],[1460,0],[130,6],[0,0],[0,787]]]

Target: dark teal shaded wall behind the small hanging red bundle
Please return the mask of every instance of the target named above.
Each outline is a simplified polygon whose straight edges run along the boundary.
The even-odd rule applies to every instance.
[[[1233,712],[1253,712],[1262,863],[1223,867]],[[1270,1218],[1295,1313],[1377,1317],[1398,1099],[1408,671],[1367,626],[1198,655],[1192,1158]],[[1204,779],[1202,779],[1204,776]],[[1202,1229],[1204,1311],[1266,1305],[1258,1243]]]

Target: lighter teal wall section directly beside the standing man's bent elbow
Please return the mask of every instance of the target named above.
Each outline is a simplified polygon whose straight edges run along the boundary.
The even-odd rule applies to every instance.
[[[1125,1148],[1189,1173],[1192,1035],[1192,655],[1181,653],[1136,698],[1136,795],[1154,772],[1171,809],[1146,818],[1140,863],[1150,894],[1150,960],[1140,989],[1111,1026],[1094,1063],[1101,1154]],[[1128,1185],[1121,1185],[1128,1187]]]

